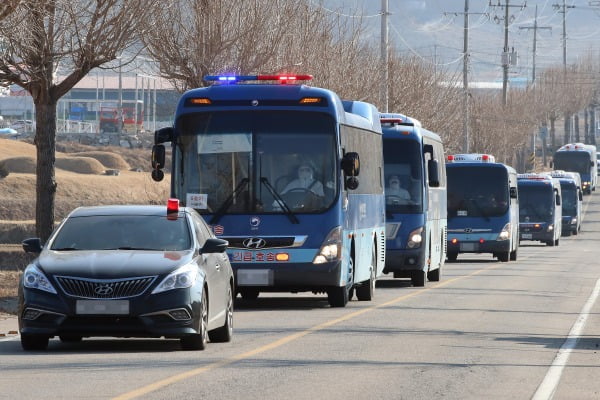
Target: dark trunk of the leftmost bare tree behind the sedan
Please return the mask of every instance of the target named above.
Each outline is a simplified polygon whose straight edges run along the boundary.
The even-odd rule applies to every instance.
[[[54,229],[56,194],[56,102],[35,104],[35,147],[37,149],[35,227],[45,243]]]

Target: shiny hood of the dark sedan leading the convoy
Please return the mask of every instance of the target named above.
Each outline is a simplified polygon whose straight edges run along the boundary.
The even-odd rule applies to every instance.
[[[167,274],[193,260],[187,251],[43,251],[37,265],[47,274],[108,279]]]

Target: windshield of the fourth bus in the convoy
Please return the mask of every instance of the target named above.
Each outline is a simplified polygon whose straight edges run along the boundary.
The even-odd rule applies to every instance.
[[[519,222],[551,222],[554,194],[550,185],[519,185]]]

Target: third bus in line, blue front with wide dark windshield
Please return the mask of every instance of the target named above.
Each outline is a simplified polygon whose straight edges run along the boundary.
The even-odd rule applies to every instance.
[[[449,155],[448,261],[459,253],[492,253],[517,259],[519,198],[517,172],[490,154]]]

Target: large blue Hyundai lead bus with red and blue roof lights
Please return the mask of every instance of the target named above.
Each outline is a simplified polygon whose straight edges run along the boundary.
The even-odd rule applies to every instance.
[[[205,77],[155,133],[153,178],[171,142],[171,196],[229,241],[242,298],[310,291],[344,307],[383,274],[381,125],[372,104],[296,84],[310,78]]]

